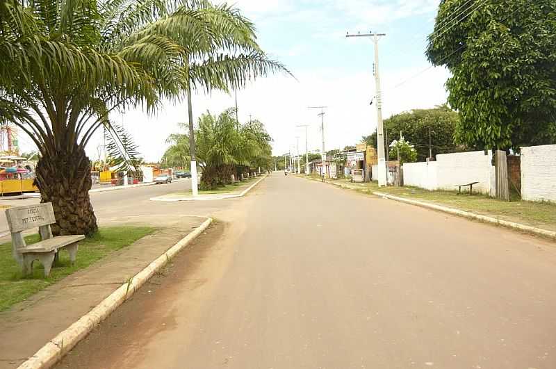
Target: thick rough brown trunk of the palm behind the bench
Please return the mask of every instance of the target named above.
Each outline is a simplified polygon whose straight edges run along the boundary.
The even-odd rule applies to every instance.
[[[56,224],[51,226],[52,233],[92,236],[98,227],[89,197],[91,164],[85,150],[43,155],[36,174],[41,201],[51,202],[54,208]]]

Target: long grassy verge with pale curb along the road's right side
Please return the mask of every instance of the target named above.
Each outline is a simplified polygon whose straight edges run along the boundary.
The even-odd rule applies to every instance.
[[[320,179],[305,178],[320,181]],[[387,196],[390,199],[419,206],[423,204],[430,205],[427,207],[463,215],[466,218],[497,223],[551,238],[556,237],[553,236],[556,235],[556,204],[548,202],[501,202],[480,194],[470,196],[464,193],[457,195],[455,191],[429,191],[413,187],[379,188],[377,183],[351,183],[346,179],[327,179],[326,182],[369,195]]]

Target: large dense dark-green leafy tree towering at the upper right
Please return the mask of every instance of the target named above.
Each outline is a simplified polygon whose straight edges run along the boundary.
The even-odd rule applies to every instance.
[[[456,139],[478,149],[556,142],[556,1],[443,0],[427,56],[448,67]]]

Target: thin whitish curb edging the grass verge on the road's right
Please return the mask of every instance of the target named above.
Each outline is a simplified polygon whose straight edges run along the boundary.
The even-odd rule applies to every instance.
[[[459,215],[459,216],[465,217],[465,218],[480,220],[482,222],[497,224],[497,225],[500,225],[502,227],[518,229],[519,231],[526,231],[526,232],[538,234],[540,236],[548,236],[548,237],[556,239],[556,231],[548,231],[548,229],[541,229],[541,228],[537,228],[537,227],[531,227],[531,226],[528,226],[528,225],[525,225],[525,224],[509,222],[507,220],[492,218],[492,217],[489,217],[489,216],[486,216],[486,215],[479,215],[479,214],[475,214],[475,213],[469,213],[468,211],[462,211],[462,210],[458,210],[458,209],[454,209],[454,208],[447,208],[445,206],[430,204],[428,202],[420,202],[420,201],[413,200],[413,199],[405,199],[404,197],[392,196],[392,195],[388,195],[388,194],[383,193],[383,192],[373,192],[373,195],[384,197],[385,199],[391,199],[391,200],[395,200],[395,201],[399,201],[399,202],[405,202],[407,204],[422,206],[423,208],[431,208],[431,209],[434,209],[434,210],[437,210],[437,211],[443,211],[444,213]]]

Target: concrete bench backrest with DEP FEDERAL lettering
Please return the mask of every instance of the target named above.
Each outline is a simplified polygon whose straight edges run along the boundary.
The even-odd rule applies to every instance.
[[[9,208],[6,210],[6,218],[11,233],[56,223],[50,202]]]

